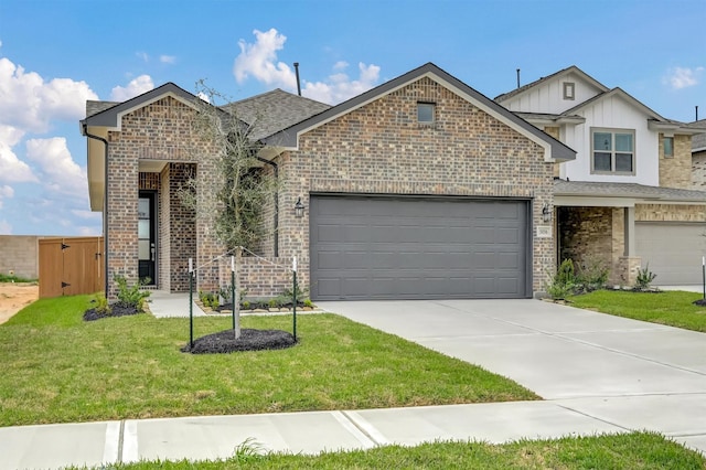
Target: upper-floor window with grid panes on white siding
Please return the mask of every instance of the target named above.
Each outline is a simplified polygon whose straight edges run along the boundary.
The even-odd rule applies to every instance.
[[[600,129],[592,133],[592,172],[634,173],[634,131]]]

